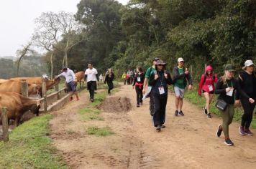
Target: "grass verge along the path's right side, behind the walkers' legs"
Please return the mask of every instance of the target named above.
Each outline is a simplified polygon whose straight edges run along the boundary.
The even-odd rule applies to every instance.
[[[194,105],[198,106],[199,108],[201,108],[202,112],[203,112],[203,107],[206,104],[206,100],[204,98],[204,95],[202,95],[202,97],[199,97],[197,94],[198,88],[197,88],[197,84],[194,85],[194,89],[192,91],[188,91],[186,90],[185,92],[185,99],[188,100],[189,102],[193,103]],[[214,95],[214,100],[213,102],[211,102],[210,105],[210,112],[214,113],[215,115],[221,116],[219,110],[215,107],[215,103],[217,100],[217,97],[219,95]],[[235,108],[235,112],[234,112],[234,120],[236,120],[237,122],[241,122],[241,117],[243,114],[243,109],[242,107],[236,107]],[[252,128],[256,128],[256,116],[254,113],[253,119],[252,119],[252,123],[251,123]]]

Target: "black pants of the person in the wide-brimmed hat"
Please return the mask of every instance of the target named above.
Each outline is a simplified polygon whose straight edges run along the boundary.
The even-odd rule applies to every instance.
[[[163,125],[165,123],[165,110],[166,110],[166,104],[168,95],[153,95],[153,107],[154,107],[154,115],[153,115],[153,121],[154,126],[157,127],[157,125]]]

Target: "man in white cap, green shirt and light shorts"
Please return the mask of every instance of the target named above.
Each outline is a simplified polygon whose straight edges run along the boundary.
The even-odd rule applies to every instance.
[[[173,82],[174,82],[174,93],[175,93],[175,116],[184,115],[182,111],[183,97],[185,87],[188,81],[188,90],[192,90],[192,78],[188,69],[184,67],[184,60],[182,57],[178,58],[178,67],[173,68]]]

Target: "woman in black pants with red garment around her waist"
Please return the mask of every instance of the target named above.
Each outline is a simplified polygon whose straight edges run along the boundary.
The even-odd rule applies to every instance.
[[[145,74],[143,73],[142,67],[137,67],[137,73],[134,75],[134,80],[132,84],[132,88],[136,90],[137,94],[137,107],[140,107],[142,105],[142,90],[143,90],[143,84],[145,79]]]

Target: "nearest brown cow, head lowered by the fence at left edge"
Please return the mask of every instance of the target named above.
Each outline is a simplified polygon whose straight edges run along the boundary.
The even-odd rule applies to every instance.
[[[40,104],[28,97],[19,95],[15,92],[0,92],[0,108],[7,107],[8,109],[8,120],[15,120],[14,125],[19,125],[19,120],[24,112],[31,111],[35,115],[39,115]],[[1,109],[0,109],[1,112]],[[1,115],[1,114],[0,114]],[[1,124],[1,117],[0,117]]]

